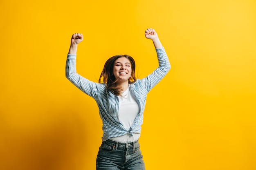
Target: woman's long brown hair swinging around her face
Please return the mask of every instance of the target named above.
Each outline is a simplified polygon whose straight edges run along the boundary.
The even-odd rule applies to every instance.
[[[128,79],[128,83],[133,84],[136,82],[136,79],[137,79],[135,77],[135,61],[130,55],[115,55],[113,57],[110,57],[106,61],[103,67],[103,70],[101,72],[101,75],[99,76],[99,83],[106,84],[106,88],[109,91],[111,91],[114,95],[121,95],[121,92],[123,91],[121,87],[116,86],[116,82],[118,81],[118,79],[115,79],[115,76],[113,73],[115,61],[120,57],[126,57],[131,63],[132,71],[131,71],[131,77]]]

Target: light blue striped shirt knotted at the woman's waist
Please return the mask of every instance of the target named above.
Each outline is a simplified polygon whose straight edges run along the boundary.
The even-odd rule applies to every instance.
[[[85,94],[94,98],[99,107],[99,115],[102,119],[103,137],[102,140],[119,137],[134,132],[141,132],[143,123],[143,113],[146,104],[146,96],[148,92],[168,73],[171,68],[170,62],[164,48],[156,49],[159,66],[150,75],[143,79],[137,79],[134,84],[129,84],[131,92],[137,98],[139,104],[139,114],[135,118],[132,126],[127,129],[120,123],[118,118],[119,99],[116,95],[107,90],[105,84],[92,82],[78,73],[76,73],[76,54],[67,55],[66,77],[77,88]]]

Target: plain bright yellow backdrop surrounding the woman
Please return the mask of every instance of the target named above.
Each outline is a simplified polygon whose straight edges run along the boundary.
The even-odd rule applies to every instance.
[[[255,0],[1,0],[0,169],[93,170],[95,101],[65,78],[97,81],[113,55],[157,67],[154,28],[171,71],[149,94],[141,132],[147,170],[256,170]]]

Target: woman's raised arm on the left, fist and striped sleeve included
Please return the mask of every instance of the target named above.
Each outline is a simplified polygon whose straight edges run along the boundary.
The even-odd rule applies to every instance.
[[[67,54],[66,62],[66,77],[72,84],[83,91],[85,94],[96,99],[97,90],[102,84],[91,82],[90,80],[82,77],[76,73],[76,51],[78,44],[83,41],[83,35],[75,33],[72,35],[70,49]]]

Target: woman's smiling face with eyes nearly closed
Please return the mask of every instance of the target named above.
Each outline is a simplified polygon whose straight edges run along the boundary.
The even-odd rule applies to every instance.
[[[127,82],[132,72],[130,60],[126,57],[118,58],[114,63],[113,74],[118,82]]]

